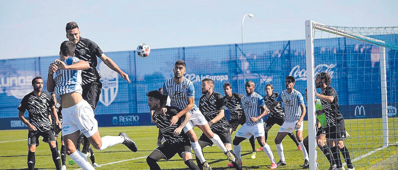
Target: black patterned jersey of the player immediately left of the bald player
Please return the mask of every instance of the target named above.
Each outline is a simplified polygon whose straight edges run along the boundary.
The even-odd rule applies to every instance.
[[[240,100],[244,95],[239,93],[232,93],[230,99],[224,96],[224,105],[230,111],[230,120],[240,120],[242,114],[244,114],[242,105],[240,105]]]

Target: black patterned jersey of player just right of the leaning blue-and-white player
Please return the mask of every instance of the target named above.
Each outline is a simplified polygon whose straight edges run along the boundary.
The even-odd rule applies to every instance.
[[[207,98],[206,95],[202,95],[199,99],[199,110],[205,116],[206,120],[209,122],[213,120],[218,114],[219,110],[225,110],[224,98],[220,93],[211,93],[210,97]],[[215,131],[229,131],[229,124],[226,121],[225,115],[218,122],[212,124],[210,129]]]

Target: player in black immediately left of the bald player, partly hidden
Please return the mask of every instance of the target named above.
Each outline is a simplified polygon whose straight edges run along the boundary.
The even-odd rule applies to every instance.
[[[222,86],[224,88],[224,104],[230,112],[229,131],[236,131],[239,125],[243,125],[246,122],[245,114],[243,113],[242,106],[240,105],[240,100],[244,95],[232,92],[232,85],[229,82],[225,82]],[[249,139],[250,145],[252,146],[252,159],[256,158],[256,145],[254,144],[254,136]],[[228,164],[232,166],[231,164]]]

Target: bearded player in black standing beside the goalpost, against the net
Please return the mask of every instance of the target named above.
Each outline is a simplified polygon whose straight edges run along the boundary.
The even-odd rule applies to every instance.
[[[344,139],[346,139],[344,119],[340,113],[337,92],[330,86],[331,81],[332,78],[328,73],[321,72],[316,75],[315,87],[320,88],[322,92],[317,93],[316,89],[314,89],[315,97],[321,99],[322,114],[325,114],[326,117],[327,126],[324,127],[327,139],[326,143],[332,151],[338,169],[344,169],[341,163],[340,151],[347,163],[347,170],[355,170],[349,156],[349,151],[344,145]]]

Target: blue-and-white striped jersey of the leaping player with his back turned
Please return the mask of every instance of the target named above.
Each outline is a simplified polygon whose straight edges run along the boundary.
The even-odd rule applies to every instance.
[[[76,57],[68,57],[63,62],[70,66],[80,60]],[[54,74],[55,96],[61,103],[61,95],[77,92],[82,93],[82,70],[57,70]]]

